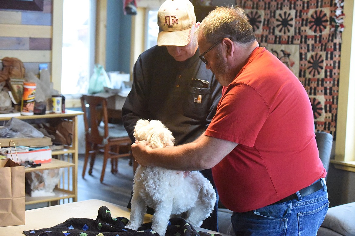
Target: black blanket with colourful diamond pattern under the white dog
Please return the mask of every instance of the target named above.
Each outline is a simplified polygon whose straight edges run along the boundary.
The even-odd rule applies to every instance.
[[[138,231],[126,229],[125,217],[111,217],[110,210],[102,206],[96,220],[87,218],[70,218],[65,222],[47,229],[25,230],[27,236],[159,236],[152,231],[152,223],[143,224]],[[166,236],[211,236],[206,232],[196,231],[182,218],[170,219]]]

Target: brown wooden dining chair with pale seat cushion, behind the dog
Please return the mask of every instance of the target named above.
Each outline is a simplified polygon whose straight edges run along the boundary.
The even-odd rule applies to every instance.
[[[95,155],[97,152],[103,152],[104,158],[100,178],[101,183],[104,180],[105,168],[108,159],[111,159],[111,172],[116,173],[118,171],[118,158],[130,157],[134,173],[137,168],[137,162],[131,155],[132,141],[123,125],[109,124],[107,115],[107,100],[103,97],[84,94],[81,97],[81,107],[84,111],[86,138],[85,160],[82,177],[85,176],[89,154],[91,154],[91,161],[88,173],[90,175],[92,174],[92,168],[94,166]]]

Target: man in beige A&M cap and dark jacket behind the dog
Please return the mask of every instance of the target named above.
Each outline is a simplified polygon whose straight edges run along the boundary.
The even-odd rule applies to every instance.
[[[122,120],[132,140],[138,119],[160,120],[175,137],[175,145],[199,137],[215,115],[222,87],[200,60],[194,31],[194,7],[189,0],[166,0],[158,11],[156,46],[144,51],[133,67],[133,85],[122,108]],[[215,188],[211,169],[201,171]],[[217,203],[202,228],[218,231]],[[128,205],[130,208],[130,203]]]

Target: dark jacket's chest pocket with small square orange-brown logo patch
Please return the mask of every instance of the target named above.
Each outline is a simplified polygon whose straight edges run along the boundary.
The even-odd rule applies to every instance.
[[[196,120],[206,119],[211,106],[211,88],[188,87],[184,115]]]

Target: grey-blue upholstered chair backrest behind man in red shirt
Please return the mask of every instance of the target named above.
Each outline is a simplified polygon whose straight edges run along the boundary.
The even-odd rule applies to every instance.
[[[316,132],[316,141],[319,158],[321,159],[324,168],[328,172],[333,147],[333,136],[332,134],[323,131]]]

